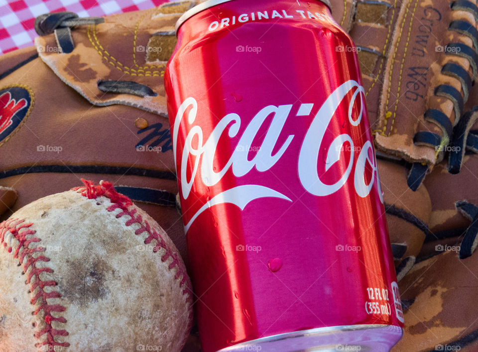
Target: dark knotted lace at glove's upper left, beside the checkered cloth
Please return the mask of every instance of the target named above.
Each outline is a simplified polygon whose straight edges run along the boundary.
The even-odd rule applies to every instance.
[[[58,48],[62,53],[68,54],[75,48],[70,28],[104,21],[105,19],[102,17],[79,18],[76,13],[68,11],[45,13],[36,17],[35,30],[41,36],[55,33]]]

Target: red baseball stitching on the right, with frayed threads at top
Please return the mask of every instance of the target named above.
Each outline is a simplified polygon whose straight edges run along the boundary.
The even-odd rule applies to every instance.
[[[143,232],[148,234],[148,237],[144,240],[145,244],[151,243],[153,239],[156,240],[157,244],[153,248],[154,252],[157,252],[159,248],[164,248],[166,253],[163,254],[161,257],[162,261],[168,260],[169,257],[173,258],[173,261],[169,264],[169,269],[177,267],[177,272],[175,274],[175,279],[179,279],[182,275],[181,282],[179,287],[183,287],[186,284],[186,287],[183,289],[183,295],[187,294],[188,298],[187,301],[192,305],[192,288],[191,282],[187,279],[186,270],[181,268],[179,265],[179,253],[173,252],[171,248],[166,245],[163,237],[156,232],[154,229],[151,229],[151,226],[147,221],[144,221],[141,215],[136,215],[136,209],[129,210],[129,206],[133,205],[133,202],[126,196],[118,193],[113,184],[107,181],[102,181],[99,185],[95,185],[93,182],[81,179],[85,186],[75,187],[72,188],[72,191],[76,191],[80,193],[82,196],[87,197],[88,199],[96,199],[98,197],[105,196],[110,199],[111,203],[113,203],[110,207],[107,208],[109,212],[112,212],[116,209],[121,209],[121,212],[117,214],[117,218],[121,218],[124,215],[128,215],[130,217],[129,220],[126,221],[126,226],[131,226],[133,224],[138,224],[140,227],[138,230],[134,232],[135,235],[139,235]],[[192,314],[192,313],[191,313]]]

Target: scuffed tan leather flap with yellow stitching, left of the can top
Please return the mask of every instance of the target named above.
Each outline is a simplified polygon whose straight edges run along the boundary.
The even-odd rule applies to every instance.
[[[163,86],[164,69],[174,49],[174,25],[184,9],[194,1],[168,3],[157,8],[115,14],[97,25],[77,26],[72,30],[75,49],[58,52],[55,34],[35,38],[42,60],[64,81],[91,103],[99,106],[124,104],[167,114]],[[150,38],[159,38],[154,47]],[[119,41],[121,45],[119,45]],[[163,45],[164,42],[164,45]],[[148,53],[161,57],[147,60]],[[150,87],[157,96],[144,98],[127,94],[103,93],[98,80],[134,81]]]

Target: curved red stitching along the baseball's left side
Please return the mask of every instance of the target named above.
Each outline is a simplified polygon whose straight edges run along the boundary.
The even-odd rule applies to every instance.
[[[55,318],[51,315],[52,312],[64,312],[65,307],[60,304],[50,305],[46,301],[48,298],[60,298],[61,294],[57,291],[45,292],[44,288],[47,286],[56,286],[56,282],[53,280],[40,280],[40,273],[42,272],[53,272],[51,268],[37,268],[36,263],[39,261],[50,261],[50,258],[38,254],[37,257],[33,257],[35,252],[43,252],[45,248],[37,246],[34,248],[29,248],[30,243],[40,242],[41,239],[35,236],[27,238],[28,235],[35,235],[36,231],[30,229],[33,223],[25,223],[24,220],[20,219],[8,219],[0,224],[0,242],[3,243],[3,246],[6,247],[7,243],[4,242],[4,237],[7,232],[13,235],[19,242],[18,246],[15,248],[13,253],[14,258],[18,258],[19,263],[23,262],[23,259],[26,259],[25,264],[23,265],[23,272],[26,273],[28,268],[31,266],[31,271],[26,276],[25,284],[30,284],[30,292],[33,293],[36,288],[39,288],[35,296],[30,300],[32,305],[35,305],[38,302],[38,299],[41,299],[39,307],[33,312],[34,315],[37,315],[41,310],[45,315],[45,328],[35,333],[35,337],[40,340],[40,338],[47,334],[46,341],[39,342],[35,344],[35,347],[40,347],[48,345],[49,350],[53,351],[55,346],[68,347],[69,343],[63,342],[59,343],[55,341],[55,336],[67,336],[68,332],[66,330],[56,330],[53,329],[51,323],[57,321],[59,323],[66,323],[64,317]],[[23,250],[20,253],[20,249]],[[12,252],[12,247],[8,247],[7,251]],[[34,280],[32,280],[34,278]],[[33,282],[32,282],[33,281]]]

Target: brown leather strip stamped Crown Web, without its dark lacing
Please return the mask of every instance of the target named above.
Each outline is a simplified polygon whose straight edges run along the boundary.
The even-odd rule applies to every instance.
[[[447,62],[456,62],[472,76],[470,62],[464,57],[446,55],[437,47],[451,42],[474,48],[472,39],[448,29],[453,20],[466,20],[476,27],[471,12],[452,10],[452,0],[406,0],[402,2],[397,25],[391,39],[391,51],[385,68],[375,144],[378,149],[410,162],[425,162],[432,166],[443,153],[434,147],[417,145],[413,137],[418,131],[431,131],[447,144],[448,136],[441,128],[426,121],[428,108],[438,109],[455,123],[451,100],[434,95],[440,84],[448,84],[461,92],[460,81],[441,73]]]

